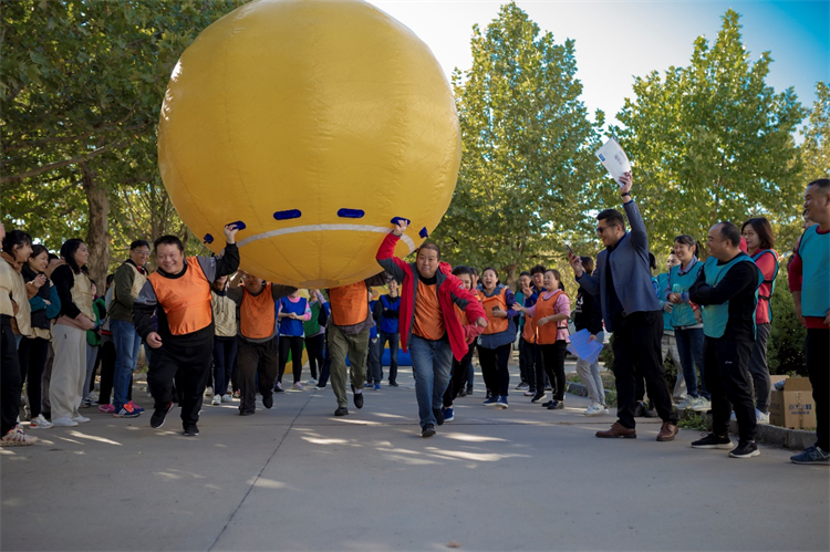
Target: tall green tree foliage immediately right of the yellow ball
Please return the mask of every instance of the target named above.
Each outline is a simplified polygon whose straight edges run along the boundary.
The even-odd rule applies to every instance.
[[[580,101],[572,40],[557,44],[509,3],[484,33],[474,27],[471,49],[473,67],[453,75],[461,168],[434,238],[450,262],[492,264],[512,281],[580,229],[582,191],[600,175],[598,133]]]

